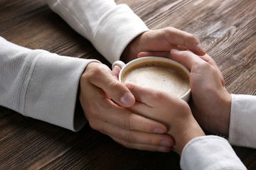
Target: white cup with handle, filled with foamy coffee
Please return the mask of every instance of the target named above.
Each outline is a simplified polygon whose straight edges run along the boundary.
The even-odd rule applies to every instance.
[[[124,64],[114,62],[121,67],[119,81],[131,82],[140,86],[165,91],[188,101],[190,96],[189,71],[182,64],[164,57],[142,57]]]

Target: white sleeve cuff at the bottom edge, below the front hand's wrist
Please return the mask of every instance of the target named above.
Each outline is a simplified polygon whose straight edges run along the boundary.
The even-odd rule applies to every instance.
[[[246,169],[227,140],[218,136],[196,137],[184,147],[181,169]]]

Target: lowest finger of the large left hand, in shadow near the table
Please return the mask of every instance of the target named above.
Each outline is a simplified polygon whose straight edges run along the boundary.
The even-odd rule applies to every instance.
[[[139,149],[139,150],[147,150],[151,152],[170,152],[172,147],[165,147],[165,146],[156,146],[156,145],[146,145],[146,144],[137,144],[137,143],[129,143],[123,140],[119,140],[117,137],[112,137],[115,142],[123,145],[124,147],[130,149]]]

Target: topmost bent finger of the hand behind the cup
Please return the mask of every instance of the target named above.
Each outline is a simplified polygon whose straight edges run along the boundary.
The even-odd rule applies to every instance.
[[[191,50],[196,55],[206,54],[205,50],[199,44],[199,40],[190,33],[176,28],[166,28],[164,35],[166,40],[171,44],[188,47],[188,50]]]

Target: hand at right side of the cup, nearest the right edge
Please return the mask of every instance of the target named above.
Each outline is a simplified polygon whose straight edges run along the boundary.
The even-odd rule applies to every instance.
[[[171,57],[191,70],[191,109],[198,123],[211,132],[228,136],[231,95],[214,60],[189,51],[171,50]]]

